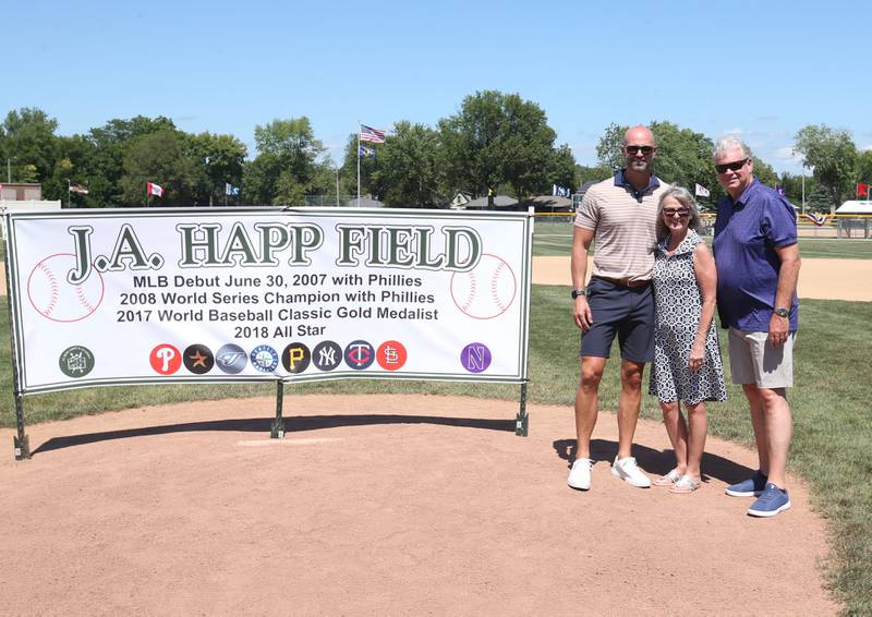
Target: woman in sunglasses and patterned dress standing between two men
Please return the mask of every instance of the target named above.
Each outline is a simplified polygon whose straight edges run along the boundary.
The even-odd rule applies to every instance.
[[[701,227],[697,203],[687,189],[673,186],[663,193],[652,275],[656,323],[649,391],[659,399],[676,458],[675,469],[655,484],[669,486],[673,493],[700,487],[708,428],[705,401],[727,399],[714,324],[717,273],[712,252],[698,233]]]

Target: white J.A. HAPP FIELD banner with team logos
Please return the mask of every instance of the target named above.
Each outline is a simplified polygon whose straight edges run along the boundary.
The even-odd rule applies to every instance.
[[[5,223],[23,392],[526,378],[526,213],[89,209]]]

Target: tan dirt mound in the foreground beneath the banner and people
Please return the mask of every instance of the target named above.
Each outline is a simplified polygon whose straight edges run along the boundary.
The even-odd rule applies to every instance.
[[[28,428],[0,457],[7,615],[829,615],[822,521],[747,517],[724,486],[751,452],[710,439],[692,495],[608,473],[615,418],[594,434],[593,488],[566,486],[569,408],[427,396],[185,403]],[[12,431],[0,431],[11,446]],[[668,470],[640,422],[640,464]],[[789,549],[787,548],[789,547]]]

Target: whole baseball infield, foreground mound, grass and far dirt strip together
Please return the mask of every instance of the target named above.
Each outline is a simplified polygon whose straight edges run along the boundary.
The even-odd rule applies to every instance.
[[[872,261],[824,261],[803,262],[792,508],[773,520],[747,517],[747,500],[723,494],[755,468],[735,388],[711,406],[700,491],[678,496],[611,477],[614,366],[593,488],[566,486],[578,336],[566,257],[545,256],[534,261],[526,438],[514,436],[514,386],[288,387],[284,439],[268,437],[275,394],[265,386],[28,397],[33,458],[14,462],[14,431],[0,430],[9,446],[0,606],[11,615],[870,610],[862,366]],[[12,426],[8,349],[0,370]],[[635,455],[652,475],[671,467],[658,414],[646,398]]]

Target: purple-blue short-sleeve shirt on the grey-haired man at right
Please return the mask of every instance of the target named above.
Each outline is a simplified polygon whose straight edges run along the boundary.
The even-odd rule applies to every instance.
[[[775,249],[797,243],[794,207],[756,178],[734,201],[717,204],[712,250],[717,266],[717,311],[724,327],[765,332],[775,308],[782,261]],[[799,301],[790,304],[790,331],[799,326]]]

